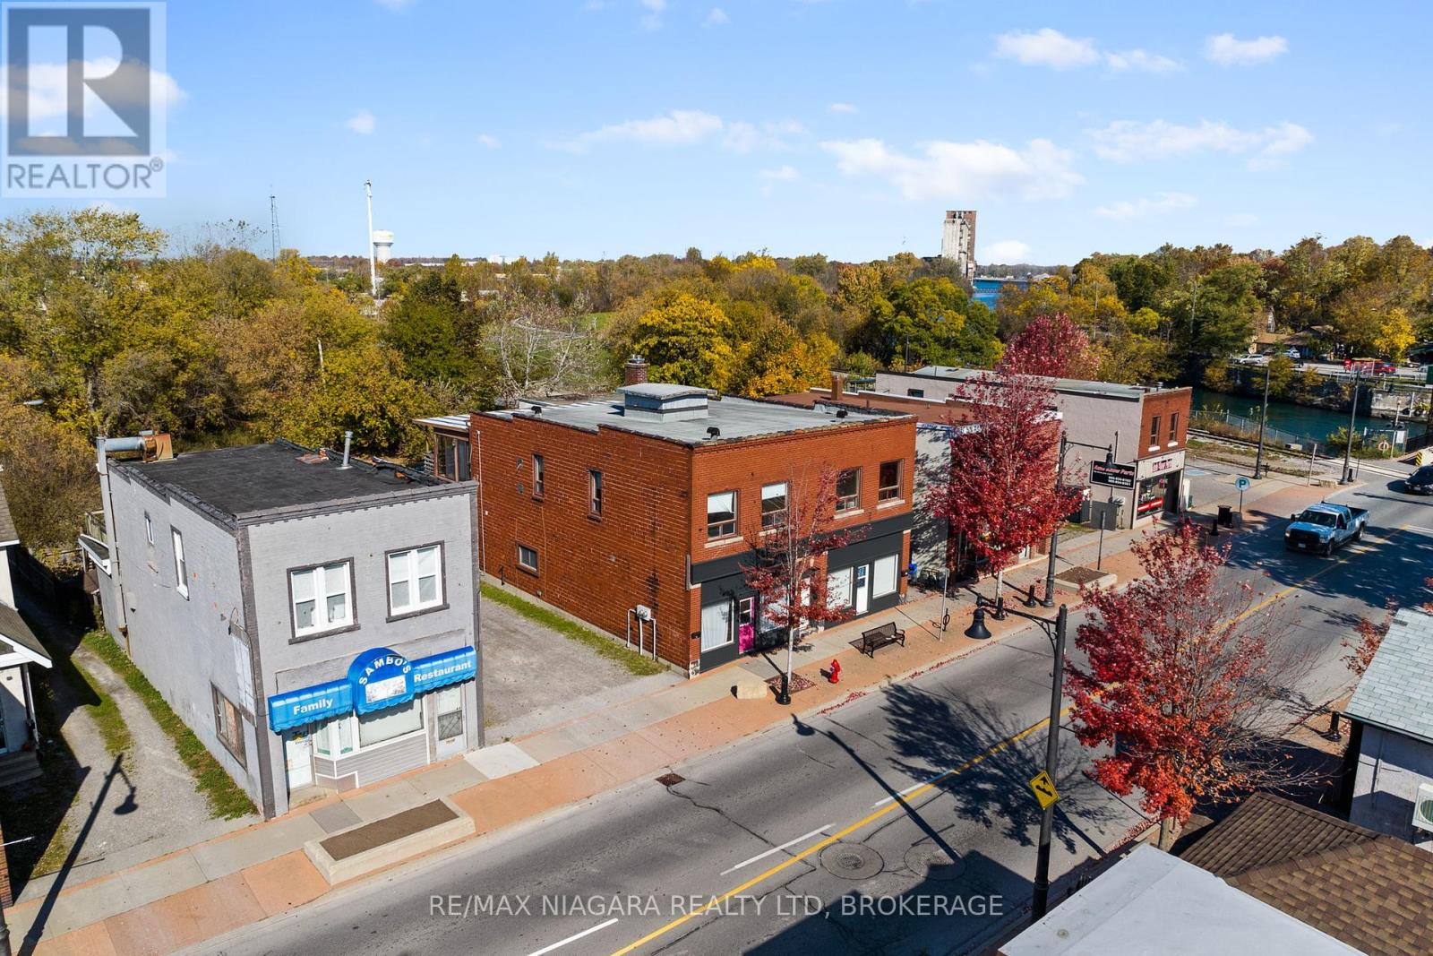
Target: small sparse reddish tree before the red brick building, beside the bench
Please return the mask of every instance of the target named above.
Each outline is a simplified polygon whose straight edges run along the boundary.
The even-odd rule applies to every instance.
[[[782,704],[791,702],[788,688],[797,632],[856,615],[850,595],[833,595],[827,576],[825,556],[854,540],[854,532],[834,526],[838,480],[840,472],[831,467],[814,473],[810,466],[800,472],[792,469],[785,494],[762,499],[759,526],[747,536],[751,555],[742,576],[757,592],[761,619],[785,632],[787,666],[778,697]]]

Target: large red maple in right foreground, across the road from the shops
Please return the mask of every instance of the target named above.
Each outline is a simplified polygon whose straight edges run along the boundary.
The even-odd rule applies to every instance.
[[[1138,787],[1169,849],[1198,803],[1310,778],[1280,742],[1280,691],[1303,658],[1275,654],[1275,609],[1255,611],[1252,589],[1221,573],[1228,546],[1185,525],[1134,550],[1142,578],[1083,595],[1075,645],[1089,665],[1066,665],[1070,722],[1080,744],[1115,748],[1095,778],[1119,795]]]

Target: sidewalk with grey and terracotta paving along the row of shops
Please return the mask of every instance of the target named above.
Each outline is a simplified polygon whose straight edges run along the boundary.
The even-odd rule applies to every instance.
[[[1211,494],[1225,484],[1230,494],[1209,497],[1197,512],[1209,515],[1238,493],[1234,476],[1209,482]],[[1281,516],[1317,500],[1324,492],[1270,479],[1245,493],[1245,527],[1264,516]],[[1129,580],[1138,565],[1129,545],[1144,530],[1109,532],[1103,568]],[[1098,533],[1062,543],[1059,565],[1093,565]],[[1006,575],[1007,585],[1043,589],[1045,558]],[[982,591],[993,593],[992,582]],[[1056,599],[1076,603],[1076,592]],[[539,817],[643,777],[656,777],[714,747],[787,725],[791,715],[835,709],[891,681],[944,666],[1022,629],[1025,622],[987,618],[993,641],[963,636],[974,606],[969,595],[952,599],[950,626],[940,634],[940,595],[926,595],[880,615],[831,628],[808,639],[795,655],[797,674],[813,684],[795,695],[795,705],[772,698],[737,699],[738,671],[772,677],[772,664],[757,658],[731,664],[696,679],[496,744],[397,780],[307,804],[277,820],[201,843],[130,869],[67,887],[47,912],[44,900],[23,900],[6,912],[11,939],[19,942],[43,920],[40,955],[169,953],[241,926],[287,912],[330,892],[328,883],[304,854],[304,843],[360,821],[380,820],[436,797],[447,797],[474,823],[474,837],[520,820]],[[861,631],[896,621],[906,631],[904,646],[891,645],[873,658],[851,645]],[[775,659],[775,656],[774,656]],[[821,674],[830,661],[841,664],[841,684]],[[778,661],[784,662],[784,661]],[[471,838],[471,837],[470,837]],[[394,864],[398,866],[398,864]],[[371,876],[371,874],[370,874]],[[368,879],[368,877],[364,877]]]

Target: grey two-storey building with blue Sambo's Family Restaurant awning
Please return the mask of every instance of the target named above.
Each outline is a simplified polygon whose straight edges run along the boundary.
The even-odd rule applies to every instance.
[[[473,483],[287,441],[99,470],[105,623],[265,817],[481,745]]]

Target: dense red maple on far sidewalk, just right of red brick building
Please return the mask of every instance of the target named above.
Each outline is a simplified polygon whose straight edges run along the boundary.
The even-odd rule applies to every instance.
[[[1060,420],[1049,381],[1019,373],[982,373],[957,393],[969,421],[949,419],[950,467],[929,496],[999,580],[1020,552],[1043,540],[1079,505],[1078,489],[1058,482]],[[947,560],[950,560],[947,555]]]

